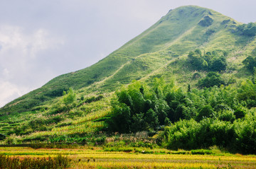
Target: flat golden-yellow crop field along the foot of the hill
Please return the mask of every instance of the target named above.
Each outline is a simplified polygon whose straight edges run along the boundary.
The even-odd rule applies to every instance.
[[[178,154],[178,152],[185,153]],[[11,158],[18,157],[21,160],[23,158],[53,158],[62,155],[70,159],[69,168],[256,168],[256,156],[230,153],[211,155],[194,155],[191,151],[168,151],[168,153],[131,151],[127,153],[82,146],[38,149],[1,147],[0,154]]]

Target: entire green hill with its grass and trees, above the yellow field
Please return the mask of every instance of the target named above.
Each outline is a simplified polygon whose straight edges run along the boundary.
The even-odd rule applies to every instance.
[[[255,28],[198,6],[171,10],[97,64],[2,107],[1,144],[255,153]]]

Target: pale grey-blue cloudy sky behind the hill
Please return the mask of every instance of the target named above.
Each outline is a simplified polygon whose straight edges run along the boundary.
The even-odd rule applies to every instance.
[[[186,5],[256,22],[255,0],[0,0],[0,107],[95,64]]]

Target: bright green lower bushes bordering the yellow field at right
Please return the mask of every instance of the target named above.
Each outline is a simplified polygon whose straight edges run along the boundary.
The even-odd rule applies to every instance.
[[[223,118],[224,117],[224,118]],[[240,153],[256,152],[255,109],[243,119],[235,120],[230,110],[201,121],[181,120],[165,127],[161,135],[164,146],[171,149],[209,148],[219,146]]]

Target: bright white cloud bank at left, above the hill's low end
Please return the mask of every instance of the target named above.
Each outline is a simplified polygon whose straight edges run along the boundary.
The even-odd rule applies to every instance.
[[[29,33],[18,26],[1,25],[0,107],[37,87],[38,83],[28,80],[29,76],[36,74],[35,69],[41,66],[37,62],[38,57],[42,57],[42,52],[63,44],[63,39],[51,35],[43,28]]]

